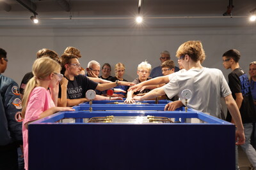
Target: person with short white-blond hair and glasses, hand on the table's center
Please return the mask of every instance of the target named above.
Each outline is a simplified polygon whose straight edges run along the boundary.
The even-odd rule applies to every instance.
[[[143,61],[138,65],[138,69],[137,69],[137,74],[138,74],[138,78],[136,78],[135,80],[132,81],[132,83],[134,84],[138,84],[141,83],[143,81],[147,81],[150,80],[151,78],[148,77],[150,74],[150,70],[151,70],[151,65],[147,62],[147,61]],[[143,89],[140,92],[135,92],[133,90],[127,92],[127,98],[124,101],[125,103],[134,103],[134,100],[132,99],[132,97],[134,95],[137,94],[145,94],[147,92],[149,92],[151,89]]]

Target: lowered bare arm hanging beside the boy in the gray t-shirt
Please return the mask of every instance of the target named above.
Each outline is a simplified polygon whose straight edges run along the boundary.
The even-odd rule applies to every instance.
[[[232,95],[228,95],[224,97],[225,103],[227,104],[228,111],[232,115],[232,120],[234,120],[236,124],[236,145],[243,145],[245,138],[244,138],[244,127],[240,115],[240,111],[237,107],[236,101],[232,97]]]

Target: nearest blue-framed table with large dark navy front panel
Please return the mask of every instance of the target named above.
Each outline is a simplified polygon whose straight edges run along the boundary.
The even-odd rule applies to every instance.
[[[120,106],[122,110],[122,106]],[[74,111],[29,128],[29,169],[235,169],[235,126],[199,111]],[[199,118],[199,124],[84,123],[102,116]],[[76,123],[56,123],[75,118]]]

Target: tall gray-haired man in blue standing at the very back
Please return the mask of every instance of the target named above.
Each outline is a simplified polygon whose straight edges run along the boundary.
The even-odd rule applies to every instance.
[[[161,64],[166,60],[170,60],[171,59],[170,52],[168,52],[166,50],[161,52],[159,59],[161,61]],[[177,72],[177,71],[179,71],[179,67],[175,67],[175,72]],[[154,67],[154,69],[152,69],[149,76],[152,77],[152,78],[155,78],[155,77],[158,77],[158,76],[163,76],[161,66]]]

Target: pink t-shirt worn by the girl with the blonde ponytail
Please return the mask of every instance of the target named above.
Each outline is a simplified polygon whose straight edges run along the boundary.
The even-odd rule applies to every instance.
[[[35,87],[31,91],[25,113],[25,118],[22,122],[24,162],[26,170],[28,170],[28,129],[26,129],[24,124],[38,120],[42,112],[54,106],[55,105],[52,101],[49,90],[46,90],[44,87]]]

